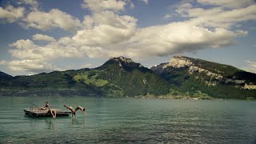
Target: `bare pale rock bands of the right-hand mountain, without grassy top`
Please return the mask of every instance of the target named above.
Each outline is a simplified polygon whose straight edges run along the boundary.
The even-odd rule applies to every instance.
[[[157,74],[162,74],[162,71],[164,71],[168,67],[172,67],[175,69],[179,68],[187,68],[189,74],[194,74],[198,73],[198,76],[196,76],[196,79],[199,79],[201,81],[204,81],[207,86],[216,86],[218,83],[225,83],[225,84],[230,84],[234,85],[238,88],[242,89],[248,89],[248,90],[256,90],[256,82],[255,81],[250,81],[247,79],[240,78],[236,75],[231,77],[228,74],[225,74],[225,71],[223,70],[218,70],[218,68],[215,69],[209,69],[209,67],[203,68],[202,62],[197,62],[197,61],[202,61],[200,59],[194,59],[194,58],[188,58],[184,57],[182,55],[174,56],[174,58],[170,58],[170,62],[168,63],[163,63],[158,66],[153,66],[151,70],[154,70],[155,73]],[[214,63],[214,62],[212,62]],[[252,75],[252,73],[238,70],[234,68],[233,66],[226,66],[222,64],[218,64],[222,66],[222,68],[226,69],[234,69],[236,71],[240,71],[242,73],[247,73]],[[205,75],[210,78],[210,81],[207,80],[207,78],[203,78],[202,75]],[[201,77],[200,77],[201,76]],[[208,78],[208,79],[209,79]]]

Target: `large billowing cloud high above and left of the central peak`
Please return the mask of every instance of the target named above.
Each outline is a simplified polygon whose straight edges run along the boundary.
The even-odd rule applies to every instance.
[[[106,46],[125,41],[136,30],[137,19],[128,15],[119,16],[112,11],[94,13],[83,22],[90,29],[79,30],[72,39],[79,46]]]

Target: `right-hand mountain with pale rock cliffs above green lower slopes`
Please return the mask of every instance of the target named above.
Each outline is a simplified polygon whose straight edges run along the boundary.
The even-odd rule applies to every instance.
[[[256,98],[256,74],[234,66],[178,55],[150,69],[170,82],[171,94],[178,91],[214,98]]]

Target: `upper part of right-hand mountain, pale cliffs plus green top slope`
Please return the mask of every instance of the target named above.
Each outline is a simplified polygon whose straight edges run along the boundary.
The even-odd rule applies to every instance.
[[[233,66],[207,62],[200,59],[188,58],[181,55],[174,56],[170,62],[151,67],[158,75],[170,74],[172,70],[186,70],[191,77],[198,79],[206,86],[226,84],[236,88],[256,90],[255,75]],[[242,74],[242,75],[241,75]],[[249,78],[250,76],[254,78]]]

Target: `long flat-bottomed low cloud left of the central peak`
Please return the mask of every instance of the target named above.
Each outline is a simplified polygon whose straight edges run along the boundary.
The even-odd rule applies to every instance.
[[[65,43],[65,39],[61,39],[62,43],[51,42],[44,46],[35,45],[29,39],[21,39],[10,44],[15,49],[9,50],[9,52],[14,58],[19,60],[38,60],[41,62],[49,62],[56,58],[98,58],[106,53],[106,50],[103,50],[101,47],[70,46],[70,41]]]

